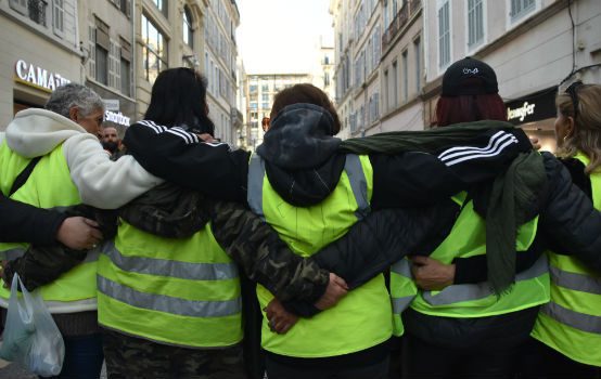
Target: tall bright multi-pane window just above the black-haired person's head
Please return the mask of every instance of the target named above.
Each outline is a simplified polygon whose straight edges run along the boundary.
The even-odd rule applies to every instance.
[[[151,83],[167,68],[167,41],[158,28],[142,14],[142,61],[144,77]]]

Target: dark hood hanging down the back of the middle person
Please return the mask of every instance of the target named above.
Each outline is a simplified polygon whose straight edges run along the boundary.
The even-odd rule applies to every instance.
[[[287,202],[308,207],[321,202],[336,187],[345,155],[332,136],[334,119],[314,104],[284,107],[271,121],[257,154],[265,159],[269,183]]]

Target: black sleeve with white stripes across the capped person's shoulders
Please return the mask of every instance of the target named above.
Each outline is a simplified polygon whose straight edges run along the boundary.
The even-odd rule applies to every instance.
[[[503,172],[522,152],[532,151],[522,130],[489,130],[433,154],[370,155],[372,208],[436,202]]]

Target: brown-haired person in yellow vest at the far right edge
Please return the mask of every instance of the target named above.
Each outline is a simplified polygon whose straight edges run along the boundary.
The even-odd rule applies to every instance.
[[[601,210],[601,86],[572,83],[555,100],[555,154]],[[599,238],[599,233],[597,233]],[[525,377],[601,376],[601,273],[570,250],[549,251],[551,301],[532,336],[536,358]]]

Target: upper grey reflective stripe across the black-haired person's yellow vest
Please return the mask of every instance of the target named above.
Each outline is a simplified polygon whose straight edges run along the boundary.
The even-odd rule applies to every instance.
[[[119,269],[132,273],[170,276],[191,280],[226,280],[238,277],[234,263],[190,263],[167,259],[123,256],[113,241],[106,243],[104,253]]]

